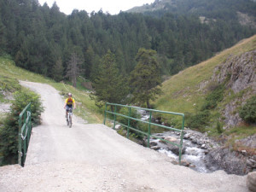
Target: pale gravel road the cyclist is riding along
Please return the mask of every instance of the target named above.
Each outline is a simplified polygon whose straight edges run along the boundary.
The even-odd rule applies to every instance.
[[[43,124],[32,129],[26,166],[0,167],[0,191],[247,191],[246,177],[174,166],[165,154],[105,125],[65,121],[64,102],[48,84],[20,82],[42,96]]]

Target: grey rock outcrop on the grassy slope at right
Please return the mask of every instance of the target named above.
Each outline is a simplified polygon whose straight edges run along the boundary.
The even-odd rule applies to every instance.
[[[228,80],[228,81],[227,81]],[[241,122],[237,108],[246,103],[247,99],[256,94],[256,49],[239,56],[232,56],[215,68],[212,82],[222,84],[225,81],[226,89],[232,90],[236,96],[226,104],[223,113],[225,124],[238,125]]]

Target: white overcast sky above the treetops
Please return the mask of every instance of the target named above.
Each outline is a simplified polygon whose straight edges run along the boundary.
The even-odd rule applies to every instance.
[[[66,15],[70,15],[73,9],[85,10],[89,14],[92,11],[98,12],[102,9],[104,13],[116,15],[119,14],[120,10],[125,11],[146,3],[154,3],[154,0],[39,0],[41,5],[45,2],[49,7],[56,2],[61,12]]]

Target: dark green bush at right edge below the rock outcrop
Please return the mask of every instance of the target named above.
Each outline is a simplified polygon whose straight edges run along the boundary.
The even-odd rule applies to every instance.
[[[247,100],[246,104],[239,110],[239,115],[249,124],[256,123],[256,96]]]

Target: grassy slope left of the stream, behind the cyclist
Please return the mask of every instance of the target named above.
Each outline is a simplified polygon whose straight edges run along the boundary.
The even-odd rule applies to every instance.
[[[0,57],[0,68],[0,77],[2,78],[6,77],[8,79],[20,79],[50,84],[55,87],[56,90],[60,90],[61,93],[72,92],[76,102],[81,103],[81,105],[78,106],[78,110],[74,113],[79,114],[83,119],[88,120],[89,123],[102,123],[102,111],[96,108],[94,102],[90,100],[89,95],[84,90],[77,90],[68,84],[55,83],[55,81],[44,78],[42,75],[28,72],[20,67],[16,67],[13,61],[3,57]]]

